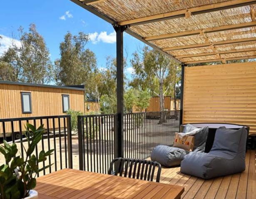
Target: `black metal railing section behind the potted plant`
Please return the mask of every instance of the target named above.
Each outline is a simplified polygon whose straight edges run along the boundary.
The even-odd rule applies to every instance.
[[[45,175],[63,168],[72,168],[70,115],[0,119],[0,143],[2,143],[2,139],[8,142],[15,142],[21,156],[25,155],[24,148],[28,146],[24,135],[27,122],[37,128],[43,124],[45,128],[42,141],[35,148],[36,157],[38,157],[41,150],[55,149],[53,154],[47,157],[46,162],[42,162],[43,166],[53,163],[52,167],[43,170],[39,175]],[[1,158],[4,157],[0,156]]]

